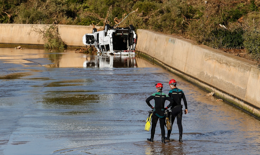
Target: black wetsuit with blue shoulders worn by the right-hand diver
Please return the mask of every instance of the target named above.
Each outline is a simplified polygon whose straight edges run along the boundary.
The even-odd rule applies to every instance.
[[[187,108],[187,101],[185,98],[185,95],[183,93],[183,91],[181,89],[178,88],[173,88],[172,90],[169,91],[168,94],[175,102],[171,107],[171,114],[172,114],[172,122],[171,122],[171,126],[173,125],[173,122],[175,120],[175,118],[177,117],[177,125],[179,128],[179,135],[182,137],[182,124],[181,124],[181,120],[182,120],[182,105],[181,105],[181,99],[183,100],[185,109]],[[171,130],[167,131],[167,137],[170,138],[171,135]]]

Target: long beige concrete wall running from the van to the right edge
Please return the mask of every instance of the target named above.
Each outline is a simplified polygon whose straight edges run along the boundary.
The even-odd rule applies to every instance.
[[[137,30],[137,36],[138,54],[260,118],[260,71],[254,62],[182,37],[148,30]]]

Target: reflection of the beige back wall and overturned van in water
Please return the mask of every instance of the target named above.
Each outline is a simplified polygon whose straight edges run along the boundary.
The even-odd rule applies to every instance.
[[[36,51],[36,52],[35,52]],[[96,67],[121,68],[137,67],[135,56],[110,54],[85,54],[75,51],[47,51],[36,49],[1,49],[0,60],[27,66],[42,65],[46,68]],[[3,77],[10,79],[10,77]]]

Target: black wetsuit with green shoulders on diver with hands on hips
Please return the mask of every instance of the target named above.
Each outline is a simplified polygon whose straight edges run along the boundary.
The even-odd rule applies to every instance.
[[[153,107],[150,104],[150,101],[154,99],[154,112],[152,115],[152,128],[151,128],[151,138],[154,138],[154,134],[155,134],[155,128],[156,128],[156,124],[158,122],[158,119],[160,121],[160,128],[161,128],[161,135],[162,138],[164,138],[165,136],[165,129],[164,129],[164,124],[165,124],[165,114],[164,114],[164,103],[166,100],[170,101],[170,104],[167,106],[167,108],[171,107],[173,104],[173,100],[165,93],[163,93],[162,91],[159,91],[157,93],[154,93],[153,95],[149,96],[145,102],[147,103],[147,105],[149,107]]]

